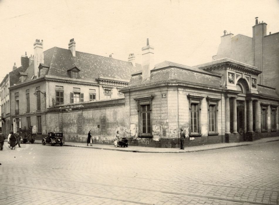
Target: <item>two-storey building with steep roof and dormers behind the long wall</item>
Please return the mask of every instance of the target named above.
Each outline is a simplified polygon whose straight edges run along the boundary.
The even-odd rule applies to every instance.
[[[141,70],[134,55],[126,62],[78,52],[75,44],[71,39],[68,49],[43,51],[43,40],[35,41],[34,61],[25,71],[14,73],[10,85],[14,131],[31,125],[37,134],[52,131],[47,128],[49,107],[122,98],[120,89],[128,85],[132,73]]]

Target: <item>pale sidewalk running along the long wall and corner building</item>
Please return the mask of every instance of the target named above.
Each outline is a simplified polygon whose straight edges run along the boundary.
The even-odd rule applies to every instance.
[[[208,144],[200,146],[190,146],[185,147],[184,150],[179,148],[159,148],[159,147],[141,147],[141,146],[128,146],[128,147],[114,147],[113,144],[92,144],[92,146],[87,146],[87,143],[80,142],[65,142],[63,146],[70,147],[82,147],[82,148],[92,148],[92,149],[104,149],[104,150],[115,150],[115,151],[125,151],[125,152],[143,152],[143,153],[185,153],[185,152],[198,152],[213,149],[222,149],[229,147],[247,146],[265,142],[279,141],[278,137],[267,137],[262,138],[253,142],[239,142],[239,143],[219,143],[219,144]],[[41,143],[39,140],[35,140],[35,143]]]

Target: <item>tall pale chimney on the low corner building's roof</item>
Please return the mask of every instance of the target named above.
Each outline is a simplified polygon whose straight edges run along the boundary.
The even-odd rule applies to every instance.
[[[149,78],[151,70],[154,68],[154,48],[149,45],[147,39],[146,46],[142,50],[142,78]]]

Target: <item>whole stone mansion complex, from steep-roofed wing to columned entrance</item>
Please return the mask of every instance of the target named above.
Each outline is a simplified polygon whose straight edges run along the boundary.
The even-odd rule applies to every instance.
[[[95,143],[108,144],[119,130],[130,145],[169,148],[179,146],[181,128],[186,146],[279,134],[279,96],[275,88],[258,83],[262,71],[255,66],[229,58],[195,67],[169,61],[154,65],[154,48],[148,41],[142,48],[142,65],[137,65],[132,54],[130,62],[96,57],[76,52],[72,42],[69,50],[54,47],[43,52],[38,71],[35,55],[34,64],[18,73],[27,75],[10,87],[15,130],[20,121],[22,127],[33,125],[37,134],[60,131],[65,141],[77,142],[85,142],[91,130]],[[131,71],[131,79],[124,80]]]

